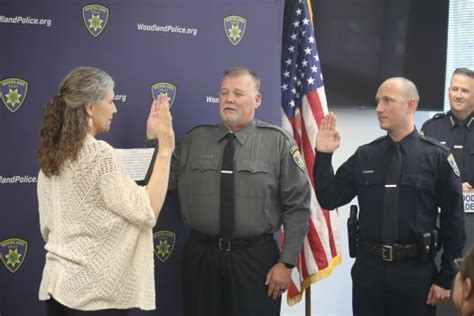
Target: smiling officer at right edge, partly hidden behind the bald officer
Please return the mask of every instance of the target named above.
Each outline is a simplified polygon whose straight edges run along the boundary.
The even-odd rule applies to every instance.
[[[474,189],[474,71],[457,68],[449,87],[451,110],[426,121],[420,133],[448,146],[461,171],[463,191]]]

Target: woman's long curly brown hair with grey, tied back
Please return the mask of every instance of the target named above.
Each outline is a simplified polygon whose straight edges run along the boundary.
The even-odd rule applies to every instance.
[[[107,73],[92,67],[76,68],[64,78],[41,123],[38,160],[46,176],[58,175],[66,160],[77,158],[89,131],[85,106],[103,99],[114,86]]]

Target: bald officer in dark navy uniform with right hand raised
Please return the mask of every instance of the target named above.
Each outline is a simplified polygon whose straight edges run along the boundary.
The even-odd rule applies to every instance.
[[[465,243],[461,182],[447,148],[418,134],[413,122],[418,101],[410,80],[384,81],[375,102],[387,135],[359,147],[336,175],[331,157],[341,137],[333,113],[323,119],[316,137],[320,205],[334,209],[357,196],[360,206],[351,272],[355,316],[435,315],[435,305],[450,297],[453,259]],[[444,248],[440,271],[433,259],[438,206]]]

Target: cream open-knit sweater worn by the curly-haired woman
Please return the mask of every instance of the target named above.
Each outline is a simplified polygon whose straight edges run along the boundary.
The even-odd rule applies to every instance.
[[[113,149],[88,135],[59,176],[38,176],[46,263],[39,299],[79,310],[155,309],[148,193],[125,173]]]

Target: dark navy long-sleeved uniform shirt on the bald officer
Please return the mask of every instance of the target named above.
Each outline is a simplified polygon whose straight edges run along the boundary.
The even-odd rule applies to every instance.
[[[321,206],[334,209],[357,195],[360,238],[377,243],[382,241],[381,211],[391,142],[389,136],[384,136],[359,147],[336,175],[331,166],[332,154],[318,152],[314,169],[316,196]],[[403,162],[398,242],[415,243],[416,233],[435,229],[439,206],[444,253],[436,283],[450,288],[455,274],[452,261],[462,255],[465,243],[460,178],[448,162],[447,148],[420,137],[416,129],[400,145]]]

